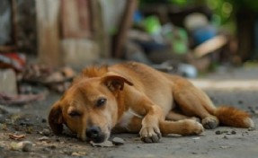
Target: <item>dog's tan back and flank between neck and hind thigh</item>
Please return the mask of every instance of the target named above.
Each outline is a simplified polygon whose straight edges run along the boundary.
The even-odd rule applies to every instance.
[[[165,76],[156,69],[135,62],[114,65],[109,70],[134,83],[134,87],[159,105],[165,114],[173,109],[173,81],[168,77],[170,75]]]

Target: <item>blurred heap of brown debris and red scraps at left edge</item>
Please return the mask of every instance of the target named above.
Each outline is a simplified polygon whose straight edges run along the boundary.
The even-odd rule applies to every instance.
[[[49,66],[27,64],[23,54],[0,53],[0,105],[41,101],[49,90],[64,92],[75,75],[70,67],[55,71]]]

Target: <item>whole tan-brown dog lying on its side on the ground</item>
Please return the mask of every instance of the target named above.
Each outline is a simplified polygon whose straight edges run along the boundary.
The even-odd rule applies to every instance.
[[[63,124],[94,143],[111,132],[139,133],[143,142],[156,143],[162,135],[199,135],[218,125],[254,127],[247,113],[216,108],[186,79],[135,62],[85,68],[49,112],[54,134]]]

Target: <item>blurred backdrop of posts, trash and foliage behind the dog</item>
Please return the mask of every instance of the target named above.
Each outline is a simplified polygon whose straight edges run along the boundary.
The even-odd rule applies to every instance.
[[[257,12],[254,0],[1,0],[0,92],[63,92],[84,66],[128,60],[190,78],[256,66]]]

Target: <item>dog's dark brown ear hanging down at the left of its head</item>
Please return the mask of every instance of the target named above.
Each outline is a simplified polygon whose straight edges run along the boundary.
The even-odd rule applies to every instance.
[[[62,110],[59,101],[57,101],[49,112],[49,126],[54,134],[59,135],[63,131],[63,123]]]

